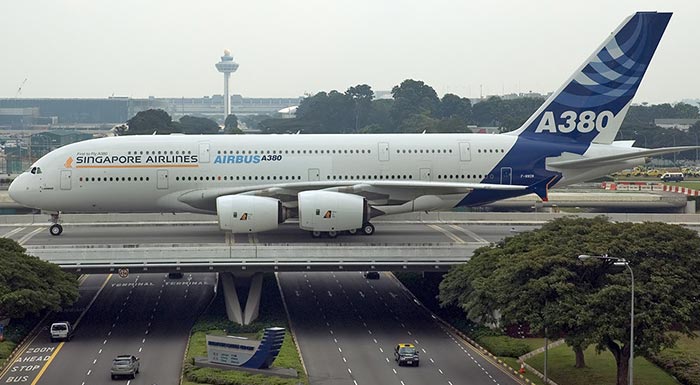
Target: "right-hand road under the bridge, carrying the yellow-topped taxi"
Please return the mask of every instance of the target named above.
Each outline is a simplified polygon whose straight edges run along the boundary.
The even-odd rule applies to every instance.
[[[313,385],[517,384],[441,327],[388,273],[280,273],[292,327]],[[399,367],[397,343],[420,350]]]

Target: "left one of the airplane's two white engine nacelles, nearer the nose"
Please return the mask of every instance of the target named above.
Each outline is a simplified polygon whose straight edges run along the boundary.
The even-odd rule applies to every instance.
[[[219,228],[234,233],[274,230],[284,222],[282,202],[251,195],[226,195],[216,198]]]

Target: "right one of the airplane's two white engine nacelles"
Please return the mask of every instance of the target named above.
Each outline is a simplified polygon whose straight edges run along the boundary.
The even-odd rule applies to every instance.
[[[299,227],[309,231],[359,229],[369,218],[364,197],[334,191],[303,191],[298,194]]]

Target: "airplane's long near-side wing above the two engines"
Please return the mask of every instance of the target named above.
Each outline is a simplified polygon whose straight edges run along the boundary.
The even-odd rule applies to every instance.
[[[325,190],[363,196],[370,205],[376,206],[403,204],[423,195],[467,194],[473,190],[521,191],[527,188],[521,185],[430,181],[317,181],[197,189],[182,194],[178,200],[198,209],[216,212],[216,198],[237,194],[276,198],[289,207],[295,207],[298,193]]]

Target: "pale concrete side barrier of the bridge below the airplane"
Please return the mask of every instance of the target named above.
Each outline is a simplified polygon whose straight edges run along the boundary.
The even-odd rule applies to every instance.
[[[111,273],[186,271],[445,271],[464,263],[483,242],[465,244],[270,244],[28,246],[64,270]]]

